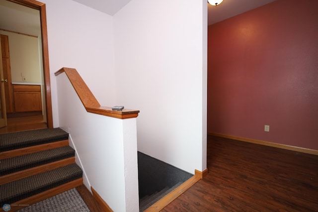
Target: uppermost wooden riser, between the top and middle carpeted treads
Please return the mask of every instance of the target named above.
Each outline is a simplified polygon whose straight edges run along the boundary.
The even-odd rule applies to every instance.
[[[45,144],[40,144],[35,146],[28,146],[25,148],[12,149],[9,151],[1,152],[0,160],[19,156],[19,155],[26,155],[26,154],[30,154],[34,152],[39,152],[43,150],[53,149],[57,147],[68,146],[68,145],[69,145],[69,140],[63,140],[63,141],[56,141],[56,142],[45,143]]]

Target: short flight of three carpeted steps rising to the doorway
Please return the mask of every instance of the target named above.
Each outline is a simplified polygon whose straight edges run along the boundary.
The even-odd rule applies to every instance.
[[[82,185],[68,138],[60,128],[0,134],[1,208],[16,211]]]

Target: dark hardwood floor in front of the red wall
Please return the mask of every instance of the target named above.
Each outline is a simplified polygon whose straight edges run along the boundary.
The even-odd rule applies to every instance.
[[[318,156],[208,136],[206,178],[162,212],[318,211]]]

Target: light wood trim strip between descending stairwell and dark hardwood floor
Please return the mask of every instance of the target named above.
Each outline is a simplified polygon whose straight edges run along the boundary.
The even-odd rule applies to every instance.
[[[207,170],[207,169],[206,169]],[[180,186],[178,186],[176,189],[174,189],[172,192],[164,196],[162,199],[160,199],[158,202],[156,202],[154,205],[146,209],[144,212],[159,212],[164,207],[166,207],[168,204],[170,204],[173,200],[175,200],[177,197],[179,197],[183,192],[188,190],[191,186],[193,186],[196,182],[202,179],[202,176],[204,176],[203,173],[205,173],[204,170],[201,172],[195,170],[195,175],[191,178],[189,178],[187,181],[182,183]],[[207,173],[207,171],[206,171]]]

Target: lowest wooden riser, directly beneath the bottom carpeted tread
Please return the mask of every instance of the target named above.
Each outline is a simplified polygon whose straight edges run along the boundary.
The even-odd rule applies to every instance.
[[[53,197],[55,195],[61,194],[63,192],[66,192],[70,189],[73,189],[75,187],[78,187],[83,184],[83,178],[79,178],[77,180],[71,181],[69,183],[63,184],[61,186],[55,187],[53,189],[41,192],[39,194],[33,195],[31,197],[28,197],[26,199],[17,201],[15,203],[10,204],[11,210],[10,212],[15,212],[20,209],[23,209],[27,206],[30,206],[32,204],[35,204],[37,202],[40,202],[42,200],[48,199],[50,197]]]

